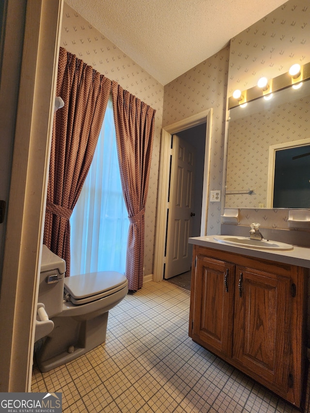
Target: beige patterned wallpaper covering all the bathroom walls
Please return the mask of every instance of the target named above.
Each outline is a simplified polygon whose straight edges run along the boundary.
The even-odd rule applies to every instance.
[[[205,39],[207,41],[207,39]],[[213,108],[210,190],[222,188],[226,102],[232,91],[248,89],[264,75],[288,71],[295,61],[310,61],[309,0],[290,0],[231,40],[218,51],[163,87],[103,34],[64,3],[61,46],[156,109],[155,138],[145,215],[145,274],[153,272],[155,216],[161,127]],[[228,91],[228,92],[227,92]],[[224,197],[222,197],[224,199]],[[208,206],[207,233],[220,233],[221,203]],[[250,212],[255,221],[285,227],[283,214]],[[287,210],[285,210],[285,216]],[[275,223],[275,215],[277,223]],[[281,216],[283,215],[283,216]],[[248,216],[248,215],[247,215]],[[263,225],[263,224],[262,224]]]

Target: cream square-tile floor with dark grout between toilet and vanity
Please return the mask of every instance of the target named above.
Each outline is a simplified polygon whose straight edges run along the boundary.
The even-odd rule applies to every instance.
[[[47,373],[34,362],[32,391],[62,392],[66,413],[297,413],[188,337],[189,296],[145,283],[110,310],[103,345]]]

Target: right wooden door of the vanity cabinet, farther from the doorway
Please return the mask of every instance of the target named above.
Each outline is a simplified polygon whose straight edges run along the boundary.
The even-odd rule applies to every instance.
[[[289,385],[291,280],[236,266],[233,359],[281,390]]]

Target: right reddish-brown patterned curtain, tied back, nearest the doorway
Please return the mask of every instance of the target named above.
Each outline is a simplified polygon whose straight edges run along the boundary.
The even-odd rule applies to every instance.
[[[124,200],[129,217],[126,271],[128,289],[143,284],[144,212],[154,138],[155,110],[116,82],[112,100]]]

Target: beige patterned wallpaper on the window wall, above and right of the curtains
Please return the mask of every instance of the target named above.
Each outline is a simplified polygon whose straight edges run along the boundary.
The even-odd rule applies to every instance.
[[[61,46],[156,110],[144,247],[145,275],[152,274],[164,87],[66,3],[63,6]]]

